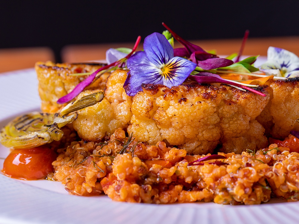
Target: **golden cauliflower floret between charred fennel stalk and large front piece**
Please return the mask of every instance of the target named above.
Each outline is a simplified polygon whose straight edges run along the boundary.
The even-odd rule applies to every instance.
[[[132,97],[127,96],[123,83],[127,71],[116,70],[108,77],[105,98],[88,108],[78,111],[78,117],[73,122],[78,135],[89,141],[98,141],[106,135],[112,135],[117,128],[125,129],[130,122],[132,113]],[[98,90],[85,90],[78,97]]]

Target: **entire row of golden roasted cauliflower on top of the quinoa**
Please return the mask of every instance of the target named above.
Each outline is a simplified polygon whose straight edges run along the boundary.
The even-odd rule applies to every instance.
[[[100,66],[37,63],[42,110],[59,111],[63,105],[57,99],[86,78],[70,74]],[[103,101],[79,111],[73,123],[84,140],[98,141],[117,128],[128,127],[140,141],[165,141],[192,154],[211,153],[215,148],[240,153],[266,147],[265,135],[284,138],[290,130],[299,131],[298,79],[268,81],[268,86],[260,87],[267,97],[226,85],[187,82],[171,89],[144,85],[143,92],[132,99],[123,89],[126,70],[107,76],[102,75],[78,96],[105,90]]]

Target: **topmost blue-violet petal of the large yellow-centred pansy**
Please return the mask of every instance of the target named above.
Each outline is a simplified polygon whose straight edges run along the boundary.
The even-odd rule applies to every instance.
[[[156,67],[163,67],[173,58],[173,48],[161,33],[152,33],[144,39],[144,51],[147,58]]]

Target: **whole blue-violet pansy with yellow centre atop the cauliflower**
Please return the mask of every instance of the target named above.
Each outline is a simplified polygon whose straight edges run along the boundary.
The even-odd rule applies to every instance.
[[[173,47],[164,35],[152,33],[144,39],[144,51],[127,60],[130,70],[123,87],[127,95],[142,91],[141,84],[162,84],[171,88],[181,85],[196,68],[196,64],[174,57]]]

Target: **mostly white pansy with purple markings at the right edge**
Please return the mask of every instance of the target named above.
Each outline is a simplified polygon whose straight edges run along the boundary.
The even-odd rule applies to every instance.
[[[299,76],[299,58],[294,53],[278,47],[269,47],[267,62],[260,66],[267,75],[292,78]]]

